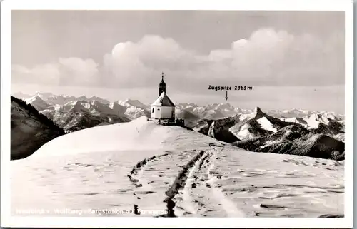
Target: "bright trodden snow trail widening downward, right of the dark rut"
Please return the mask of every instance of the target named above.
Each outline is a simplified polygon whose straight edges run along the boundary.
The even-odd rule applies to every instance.
[[[186,185],[176,195],[176,215],[208,217],[243,217],[245,214],[222,193],[216,180],[221,178],[213,171],[216,148],[206,151],[188,173]]]

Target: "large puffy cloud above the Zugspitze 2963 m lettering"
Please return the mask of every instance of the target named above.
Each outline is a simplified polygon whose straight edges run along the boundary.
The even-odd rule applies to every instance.
[[[341,45],[342,44],[342,45]],[[344,82],[343,39],[260,29],[231,49],[212,51],[231,78],[259,86],[321,86]],[[222,68],[221,66],[221,68]]]

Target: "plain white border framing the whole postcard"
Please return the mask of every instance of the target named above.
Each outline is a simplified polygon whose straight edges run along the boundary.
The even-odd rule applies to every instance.
[[[46,218],[10,215],[11,9],[61,10],[274,10],[345,11],[346,161],[345,218]],[[24,187],[26,188],[26,187]],[[4,0],[1,2],[1,226],[174,228],[352,228],[353,227],[353,2],[348,0]]]

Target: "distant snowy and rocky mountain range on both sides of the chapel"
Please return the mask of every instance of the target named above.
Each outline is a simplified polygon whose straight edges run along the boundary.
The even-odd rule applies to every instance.
[[[150,106],[134,99],[110,102],[96,96],[16,95],[68,132],[150,116]],[[308,141],[313,146],[321,142],[328,145],[329,153],[320,155],[323,158],[341,158],[344,153],[344,116],[333,112],[262,111],[259,107],[249,110],[234,108],[230,103],[206,106],[176,103],[176,118],[184,119],[186,126],[194,131],[249,151],[314,155],[311,154],[316,151],[314,147],[301,153],[300,147],[291,145],[300,142],[303,146]],[[338,152],[338,156],[331,156],[333,152]]]

